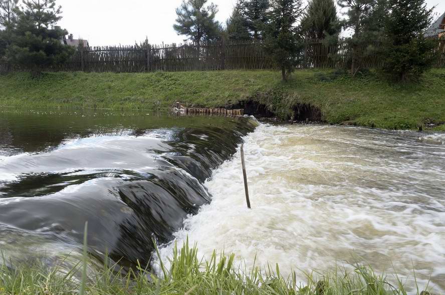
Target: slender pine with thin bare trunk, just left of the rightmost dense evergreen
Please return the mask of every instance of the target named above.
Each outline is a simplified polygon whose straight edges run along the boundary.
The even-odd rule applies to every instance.
[[[346,19],[343,20],[345,28],[352,29],[353,35],[350,38],[352,45],[351,52],[351,74],[360,69],[360,59],[358,48],[361,44],[368,41],[367,34],[370,33],[370,19],[377,0],[338,0],[337,4],[346,8]]]

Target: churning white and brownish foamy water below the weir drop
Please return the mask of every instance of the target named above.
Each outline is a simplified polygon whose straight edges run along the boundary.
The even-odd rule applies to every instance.
[[[285,274],[361,262],[412,279],[414,268],[420,286],[431,276],[445,290],[445,146],[409,131],[265,124],[245,142],[252,210],[238,150],[178,243],[188,235],[204,257],[225,250]]]

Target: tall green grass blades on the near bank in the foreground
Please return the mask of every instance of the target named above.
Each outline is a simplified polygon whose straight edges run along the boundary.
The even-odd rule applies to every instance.
[[[213,251],[211,258],[204,261],[197,252],[188,240],[180,249],[175,245],[171,266],[167,269],[160,262],[162,276],[140,266],[123,274],[116,271],[116,265],[107,263],[88,278],[82,263],[70,271],[60,264],[15,268],[4,264],[0,267],[0,294],[407,294],[400,280],[392,285],[384,275],[374,273],[369,267],[357,267],[351,272],[336,269],[320,275],[307,274],[302,285],[295,272],[283,277],[278,265],[263,271],[255,267],[246,272],[234,267],[234,254],[217,255]],[[84,261],[87,260],[85,254]]]

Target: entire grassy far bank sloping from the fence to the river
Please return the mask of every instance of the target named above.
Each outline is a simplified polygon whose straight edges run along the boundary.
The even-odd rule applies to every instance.
[[[274,71],[28,73],[0,76],[0,106],[167,109],[180,100],[217,107],[253,99],[286,117],[297,103],[321,109],[329,123],[415,129],[445,122],[445,69],[419,84],[391,84],[377,72],[355,78],[333,70],[299,70],[284,83]],[[445,128],[442,127],[436,127]]]

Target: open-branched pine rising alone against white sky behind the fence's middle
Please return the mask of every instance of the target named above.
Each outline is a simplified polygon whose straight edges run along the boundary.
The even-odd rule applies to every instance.
[[[219,22],[215,20],[218,6],[206,5],[207,0],[183,0],[176,8],[173,28],[178,35],[186,35],[199,46],[203,40],[214,40],[220,35]]]

